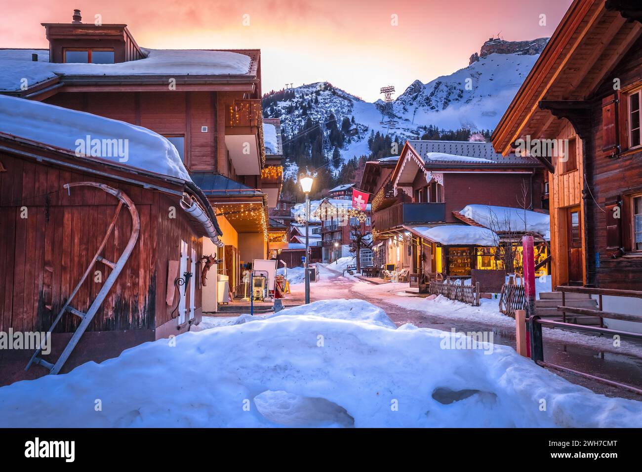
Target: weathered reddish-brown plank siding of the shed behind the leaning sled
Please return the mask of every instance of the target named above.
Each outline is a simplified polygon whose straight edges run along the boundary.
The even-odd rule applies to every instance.
[[[56,164],[31,161],[12,152],[1,151],[0,162],[6,169],[0,173],[1,330],[48,330],[98,250],[117,200],[97,188],[74,187],[69,192],[63,188],[68,182],[81,181],[107,184],[126,193],[139,214],[140,232],[132,254],[64,371],[87,360],[100,361],[117,356],[126,347],[146,340],[189,330],[187,322],[178,326],[177,313],[175,318],[171,317],[178,299],[175,298],[172,306],[165,300],[168,265],[170,260],[180,259],[180,240],[189,244],[189,256],[192,249],[196,252],[193,277],[196,299],[191,303],[187,290],[186,321],[189,320],[189,307],[193,305],[196,308],[194,322],[200,322],[202,238],[180,209],[179,197],[125,184],[108,176],[98,177],[69,171]],[[175,207],[175,218],[169,217],[172,206]],[[27,218],[21,218],[22,207],[26,207]],[[116,262],[131,231],[132,220],[123,207],[103,256]],[[71,306],[86,312],[111,270],[107,265],[96,263]],[[96,271],[100,271],[100,282],[94,278]],[[79,321],[73,315],[63,316],[54,331],[52,356],[60,353]],[[0,372],[11,366],[12,373],[6,376],[7,381],[33,378],[33,373],[26,377],[20,374],[30,355],[27,351],[0,353]],[[39,374],[44,373],[39,367],[36,370]],[[0,380],[0,385],[4,383]]]

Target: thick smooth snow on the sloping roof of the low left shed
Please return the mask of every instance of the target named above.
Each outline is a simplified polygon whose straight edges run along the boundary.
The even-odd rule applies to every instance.
[[[121,166],[132,166],[191,181],[178,151],[168,139],[147,128],[91,113],[0,95],[0,132],[94,155]],[[87,137],[100,140],[98,152],[85,146]],[[103,144],[117,140],[126,153],[103,153]],[[113,150],[110,146],[109,150]],[[77,153],[77,155],[79,155]],[[124,157],[123,157],[124,156]]]

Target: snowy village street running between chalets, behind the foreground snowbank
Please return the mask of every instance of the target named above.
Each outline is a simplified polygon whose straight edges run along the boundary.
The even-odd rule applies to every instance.
[[[361,299],[382,308],[397,325],[413,324],[418,328],[434,328],[442,331],[487,331],[494,332],[495,344],[516,346],[515,320],[499,313],[498,301],[483,300],[482,306],[473,307],[447,299],[428,301],[415,297],[407,283],[374,285],[349,274],[343,276],[343,268],[337,263],[318,265],[320,281],[311,283],[311,301],[329,299]],[[300,272],[302,276],[302,271]],[[547,285],[547,283],[549,285]],[[541,282],[542,290],[549,290],[550,281]],[[291,299],[303,302],[304,284],[291,286]],[[614,347],[608,338],[598,338],[568,331],[544,329],[544,358],[558,365],[568,366],[609,380],[642,387],[642,345],[623,342]],[[637,354],[636,357],[633,354]],[[558,373],[559,374],[559,373]],[[578,376],[561,374],[573,383],[583,385],[594,392],[608,396],[637,399],[639,395],[616,389]]]

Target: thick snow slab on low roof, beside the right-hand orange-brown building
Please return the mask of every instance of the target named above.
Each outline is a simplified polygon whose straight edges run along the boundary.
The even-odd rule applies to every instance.
[[[550,239],[550,216],[523,208],[467,205],[460,211],[466,218],[496,231],[536,232]]]

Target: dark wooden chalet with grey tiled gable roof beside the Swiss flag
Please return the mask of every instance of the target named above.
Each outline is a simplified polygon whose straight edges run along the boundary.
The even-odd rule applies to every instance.
[[[532,157],[504,159],[490,143],[407,141],[391,161],[367,163],[361,189],[375,192],[376,263],[409,270],[415,281],[435,272],[468,277],[478,261],[476,248],[490,245],[474,242],[478,238],[444,245],[424,238],[424,229],[461,223],[454,212],[469,204],[517,207],[525,199],[529,209],[546,205],[542,164]]]

